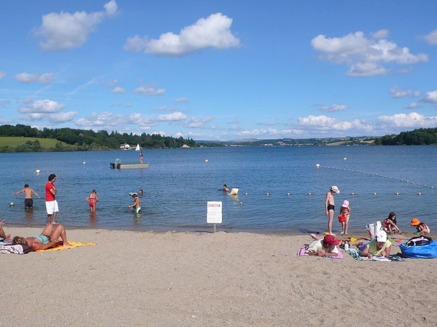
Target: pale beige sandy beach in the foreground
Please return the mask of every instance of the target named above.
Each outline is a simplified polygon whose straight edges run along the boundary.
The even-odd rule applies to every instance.
[[[67,236],[97,246],[0,254],[0,325],[437,325],[437,259],[297,257],[309,235],[87,229]]]

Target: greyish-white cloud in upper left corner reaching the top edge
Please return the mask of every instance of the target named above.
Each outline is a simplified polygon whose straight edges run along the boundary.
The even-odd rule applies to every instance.
[[[74,14],[60,12],[44,15],[42,24],[35,33],[43,39],[39,45],[45,51],[80,47],[104,18],[116,15],[117,9],[117,2],[111,0],[104,4],[104,11],[101,12],[88,14],[77,11]]]

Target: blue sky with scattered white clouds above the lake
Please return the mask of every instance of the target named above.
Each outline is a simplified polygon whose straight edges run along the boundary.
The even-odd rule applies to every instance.
[[[437,127],[437,1],[0,1],[0,124],[194,140]]]

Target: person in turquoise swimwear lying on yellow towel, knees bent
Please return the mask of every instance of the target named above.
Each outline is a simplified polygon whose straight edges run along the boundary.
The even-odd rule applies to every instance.
[[[30,235],[26,238],[15,236],[12,239],[12,244],[25,244],[29,245],[34,250],[45,250],[53,248],[56,243],[58,243],[59,237],[62,239],[63,246],[67,247],[71,245],[67,241],[67,234],[63,225],[47,224],[41,234]]]

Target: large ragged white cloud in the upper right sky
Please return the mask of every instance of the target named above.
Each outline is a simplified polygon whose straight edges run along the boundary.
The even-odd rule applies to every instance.
[[[383,63],[413,64],[428,61],[426,54],[414,55],[408,47],[398,47],[392,41],[379,38],[387,36],[388,31],[382,31],[374,33],[378,36],[374,39],[366,37],[362,31],[333,38],[320,34],[311,40],[311,46],[319,51],[322,59],[335,64],[346,63],[349,76],[386,75],[391,69],[383,66]]]

